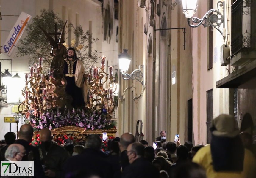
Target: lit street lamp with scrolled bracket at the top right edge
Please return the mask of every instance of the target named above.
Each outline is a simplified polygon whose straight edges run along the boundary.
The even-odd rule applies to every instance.
[[[224,21],[224,16],[219,12],[219,10],[211,9],[206,12],[203,18],[199,19],[197,17],[193,17],[193,14],[196,13],[196,4],[197,0],[182,0],[183,14],[185,14],[186,18],[188,19],[188,25],[193,28],[199,27],[200,25],[203,25],[204,27],[212,26],[213,28],[216,28],[221,33],[221,35],[223,35],[219,28]],[[222,7],[223,2],[218,1],[217,8],[218,6]],[[197,24],[192,25],[191,21]]]

